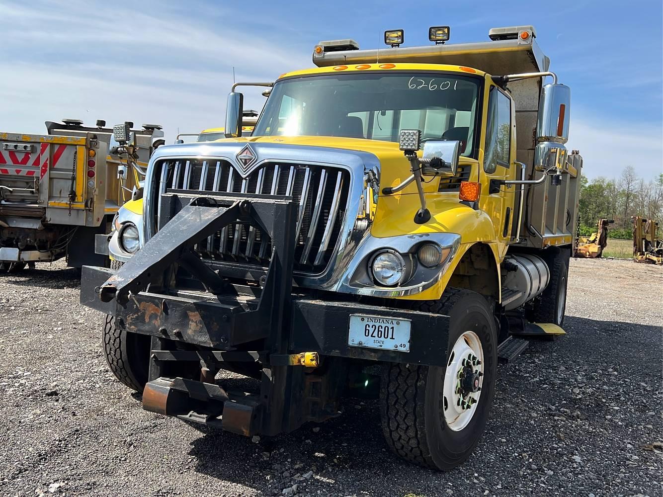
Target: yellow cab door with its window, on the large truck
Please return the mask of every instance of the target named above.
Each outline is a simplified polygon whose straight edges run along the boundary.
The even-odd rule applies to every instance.
[[[485,188],[484,192],[488,195],[481,195],[479,207],[493,219],[499,256],[503,258],[507,244],[512,240],[514,219],[516,223],[518,221],[514,205],[520,190],[516,186],[497,186],[495,182],[491,189],[491,180],[516,178],[515,109],[509,93],[495,85],[489,86],[487,102],[481,188]]]

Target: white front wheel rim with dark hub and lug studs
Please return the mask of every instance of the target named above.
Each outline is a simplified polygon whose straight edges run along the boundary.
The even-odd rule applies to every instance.
[[[473,331],[465,331],[453,345],[444,372],[444,419],[452,431],[465,428],[477,410],[483,368],[481,341]]]

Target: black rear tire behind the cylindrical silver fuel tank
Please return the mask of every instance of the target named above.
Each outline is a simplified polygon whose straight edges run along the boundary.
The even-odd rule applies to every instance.
[[[530,321],[534,323],[564,324],[566,314],[566,289],[569,279],[568,261],[563,256],[556,256],[550,264],[550,282],[546,290],[534,302]]]

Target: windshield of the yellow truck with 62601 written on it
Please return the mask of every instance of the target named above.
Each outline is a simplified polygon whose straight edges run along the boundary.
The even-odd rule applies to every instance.
[[[254,136],[330,136],[398,141],[461,141],[472,156],[481,80],[440,72],[325,74],[277,82]]]

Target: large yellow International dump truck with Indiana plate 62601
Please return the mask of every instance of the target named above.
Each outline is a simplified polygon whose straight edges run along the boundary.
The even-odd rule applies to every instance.
[[[534,28],[449,33],[321,42],[316,68],[233,85],[229,139],[155,152],[140,250],[81,288],[146,410],[276,435],[375,396],[400,457],[469,457],[498,357],[564,333],[582,159]],[[271,91],[242,137],[235,90],[256,84]]]

